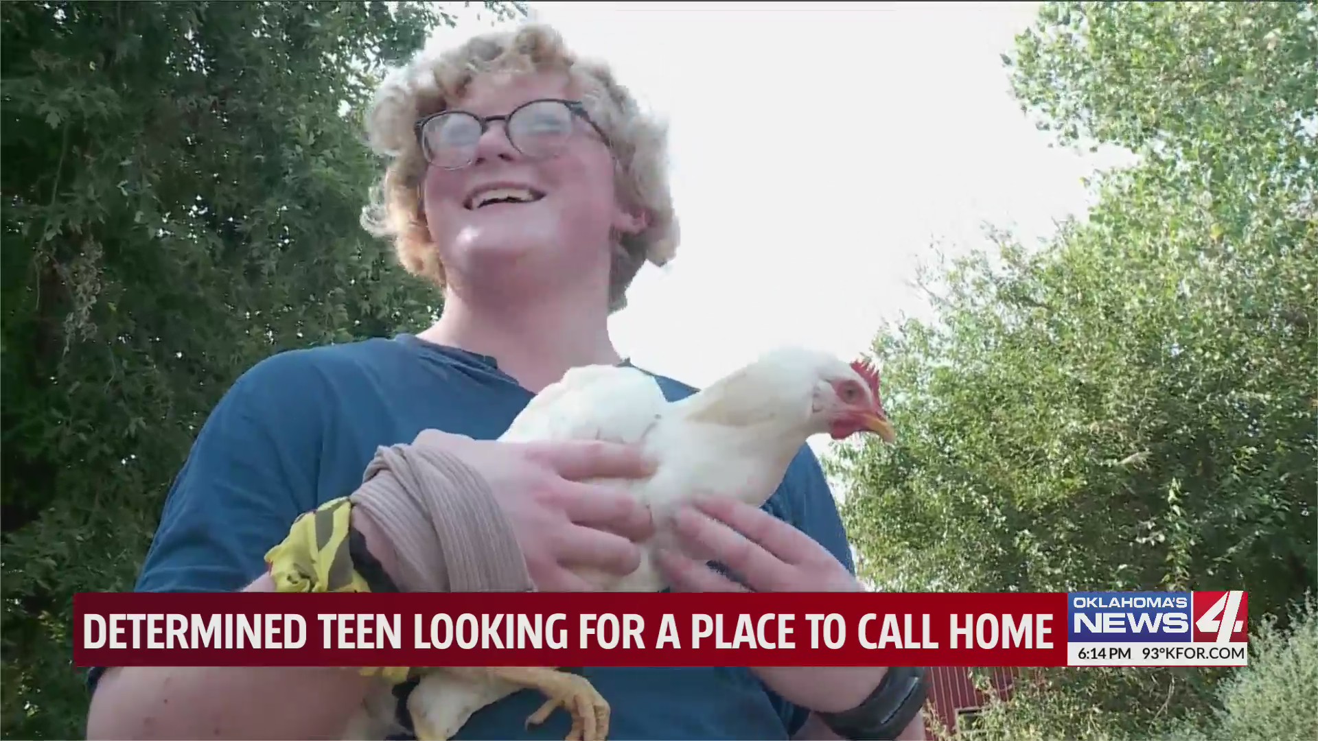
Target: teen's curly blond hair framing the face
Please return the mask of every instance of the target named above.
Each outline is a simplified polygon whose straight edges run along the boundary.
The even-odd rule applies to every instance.
[[[484,33],[447,51],[422,50],[407,66],[389,74],[368,112],[366,138],[390,162],[372,189],[361,224],[370,233],[393,240],[409,273],[443,287],[444,266],[422,215],[420,185],[427,162],[413,125],[460,99],[480,74],[530,71],[563,71],[581,88],[587,111],[609,138],[619,196],[648,216],[645,231],[616,236],[609,309],[617,311],[626,306],[626,290],[645,261],[664,265],[677,251],[677,219],[668,190],[667,128],[642,113],[608,65],[579,58],[544,24]]]

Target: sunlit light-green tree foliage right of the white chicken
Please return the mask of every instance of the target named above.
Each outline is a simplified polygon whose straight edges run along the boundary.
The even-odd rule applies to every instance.
[[[900,442],[829,461],[866,576],[1243,587],[1286,624],[1318,578],[1315,58],[1311,3],[1043,7],[1006,58],[1023,109],[1139,163],[1037,251],[994,233],[936,277],[937,322],[876,339]],[[1215,676],[1053,680],[1139,725]]]

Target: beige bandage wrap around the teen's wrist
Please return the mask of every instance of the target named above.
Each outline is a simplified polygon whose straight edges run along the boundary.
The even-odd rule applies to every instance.
[[[535,589],[517,535],[485,479],[427,444],[381,447],[352,494],[389,539],[403,592]]]

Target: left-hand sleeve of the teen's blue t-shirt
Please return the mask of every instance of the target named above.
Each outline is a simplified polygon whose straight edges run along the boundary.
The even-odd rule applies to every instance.
[[[326,388],[306,351],[233,384],[170,487],[136,591],[233,592],[265,571],[265,552],[316,505]]]

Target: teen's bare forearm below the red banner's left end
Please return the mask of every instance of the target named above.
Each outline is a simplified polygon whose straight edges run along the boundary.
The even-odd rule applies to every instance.
[[[268,575],[245,592],[273,592]],[[378,679],[355,668],[115,667],[87,738],[339,738]]]

